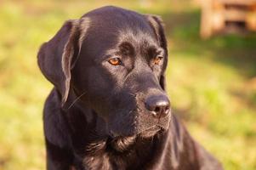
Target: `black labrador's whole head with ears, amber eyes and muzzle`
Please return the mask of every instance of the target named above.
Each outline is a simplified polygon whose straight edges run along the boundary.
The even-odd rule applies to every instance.
[[[115,7],[66,21],[38,53],[62,104],[76,95],[75,105],[93,110],[115,137],[168,129],[167,62],[162,20]]]

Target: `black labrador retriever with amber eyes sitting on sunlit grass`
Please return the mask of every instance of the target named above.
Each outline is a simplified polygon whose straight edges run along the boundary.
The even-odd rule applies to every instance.
[[[103,7],[68,20],[38,64],[47,169],[222,169],[171,115],[162,20]]]

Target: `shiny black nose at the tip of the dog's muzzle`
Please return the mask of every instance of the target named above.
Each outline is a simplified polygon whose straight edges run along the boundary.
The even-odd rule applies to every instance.
[[[157,118],[168,116],[170,102],[166,95],[152,95],[145,99],[145,107]]]

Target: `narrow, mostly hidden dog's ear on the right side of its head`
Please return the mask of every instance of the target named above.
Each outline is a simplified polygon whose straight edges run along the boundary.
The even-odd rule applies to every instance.
[[[168,64],[168,44],[167,44],[167,39],[165,37],[165,32],[163,29],[163,22],[160,16],[156,16],[156,15],[151,15],[151,14],[147,14],[145,15],[146,19],[149,21],[151,28],[153,29],[153,31],[156,34],[156,38],[158,43],[160,44],[160,47],[162,47],[164,49],[165,52],[165,62],[163,64],[163,69],[162,69],[162,74],[160,77],[160,85],[162,87],[163,90],[165,90],[165,75],[164,75],[164,71],[167,67]]]

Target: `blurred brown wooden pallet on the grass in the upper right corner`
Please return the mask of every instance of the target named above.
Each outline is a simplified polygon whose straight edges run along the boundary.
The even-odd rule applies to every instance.
[[[202,0],[202,38],[224,31],[230,23],[256,31],[256,0]]]

